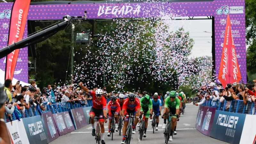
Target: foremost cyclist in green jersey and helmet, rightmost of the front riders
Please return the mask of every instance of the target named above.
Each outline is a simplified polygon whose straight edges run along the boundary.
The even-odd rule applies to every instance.
[[[176,122],[176,118],[179,117],[180,114],[180,100],[179,98],[176,97],[176,92],[175,91],[171,91],[169,93],[169,97],[167,97],[165,99],[164,102],[164,115],[162,116],[162,118],[164,118],[164,124],[163,124],[163,129],[165,129],[166,127],[166,119],[168,118],[168,113],[171,112],[172,115],[176,116],[172,116],[171,120],[172,120],[172,126],[171,126],[171,136],[169,138],[169,141],[172,141],[172,134],[174,131],[174,127],[175,127],[175,122]]]

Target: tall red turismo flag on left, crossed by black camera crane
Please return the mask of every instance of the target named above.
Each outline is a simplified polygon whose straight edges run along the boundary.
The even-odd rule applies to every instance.
[[[22,40],[26,26],[30,0],[16,0],[12,6],[8,45]],[[5,79],[12,79],[20,49],[7,55]]]

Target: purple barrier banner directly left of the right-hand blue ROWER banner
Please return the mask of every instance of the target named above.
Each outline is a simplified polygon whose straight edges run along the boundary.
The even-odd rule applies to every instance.
[[[210,136],[216,108],[200,105],[196,117],[196,129]]]

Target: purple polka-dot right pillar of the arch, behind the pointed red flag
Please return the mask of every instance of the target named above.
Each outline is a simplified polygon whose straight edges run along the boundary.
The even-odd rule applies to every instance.
[[[231,32],[236,48],[236,58],[244,83],[246,82],[246,47],[245,47],[245,2],[244,0],[214,1],[215,26],[215,68],[216,78],[220,70],[220,60],[223,49],[227,17],[229,14]],[[218,83],[218,78],[216,79]]]

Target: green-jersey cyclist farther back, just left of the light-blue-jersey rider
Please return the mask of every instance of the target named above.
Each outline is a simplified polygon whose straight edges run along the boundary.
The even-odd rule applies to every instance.
[[[148,117],[152,119],[152,114],[153,114],[153,109],[152,109],[152,100],[150,99],[149,95],[146,94],[144,97],[140,99],[140,119],[142,117],[142,113],[146,113],[145,115],[145,129],[144,129],[144,135],[143,137],[145,138],[146,131],[148,128]]]

